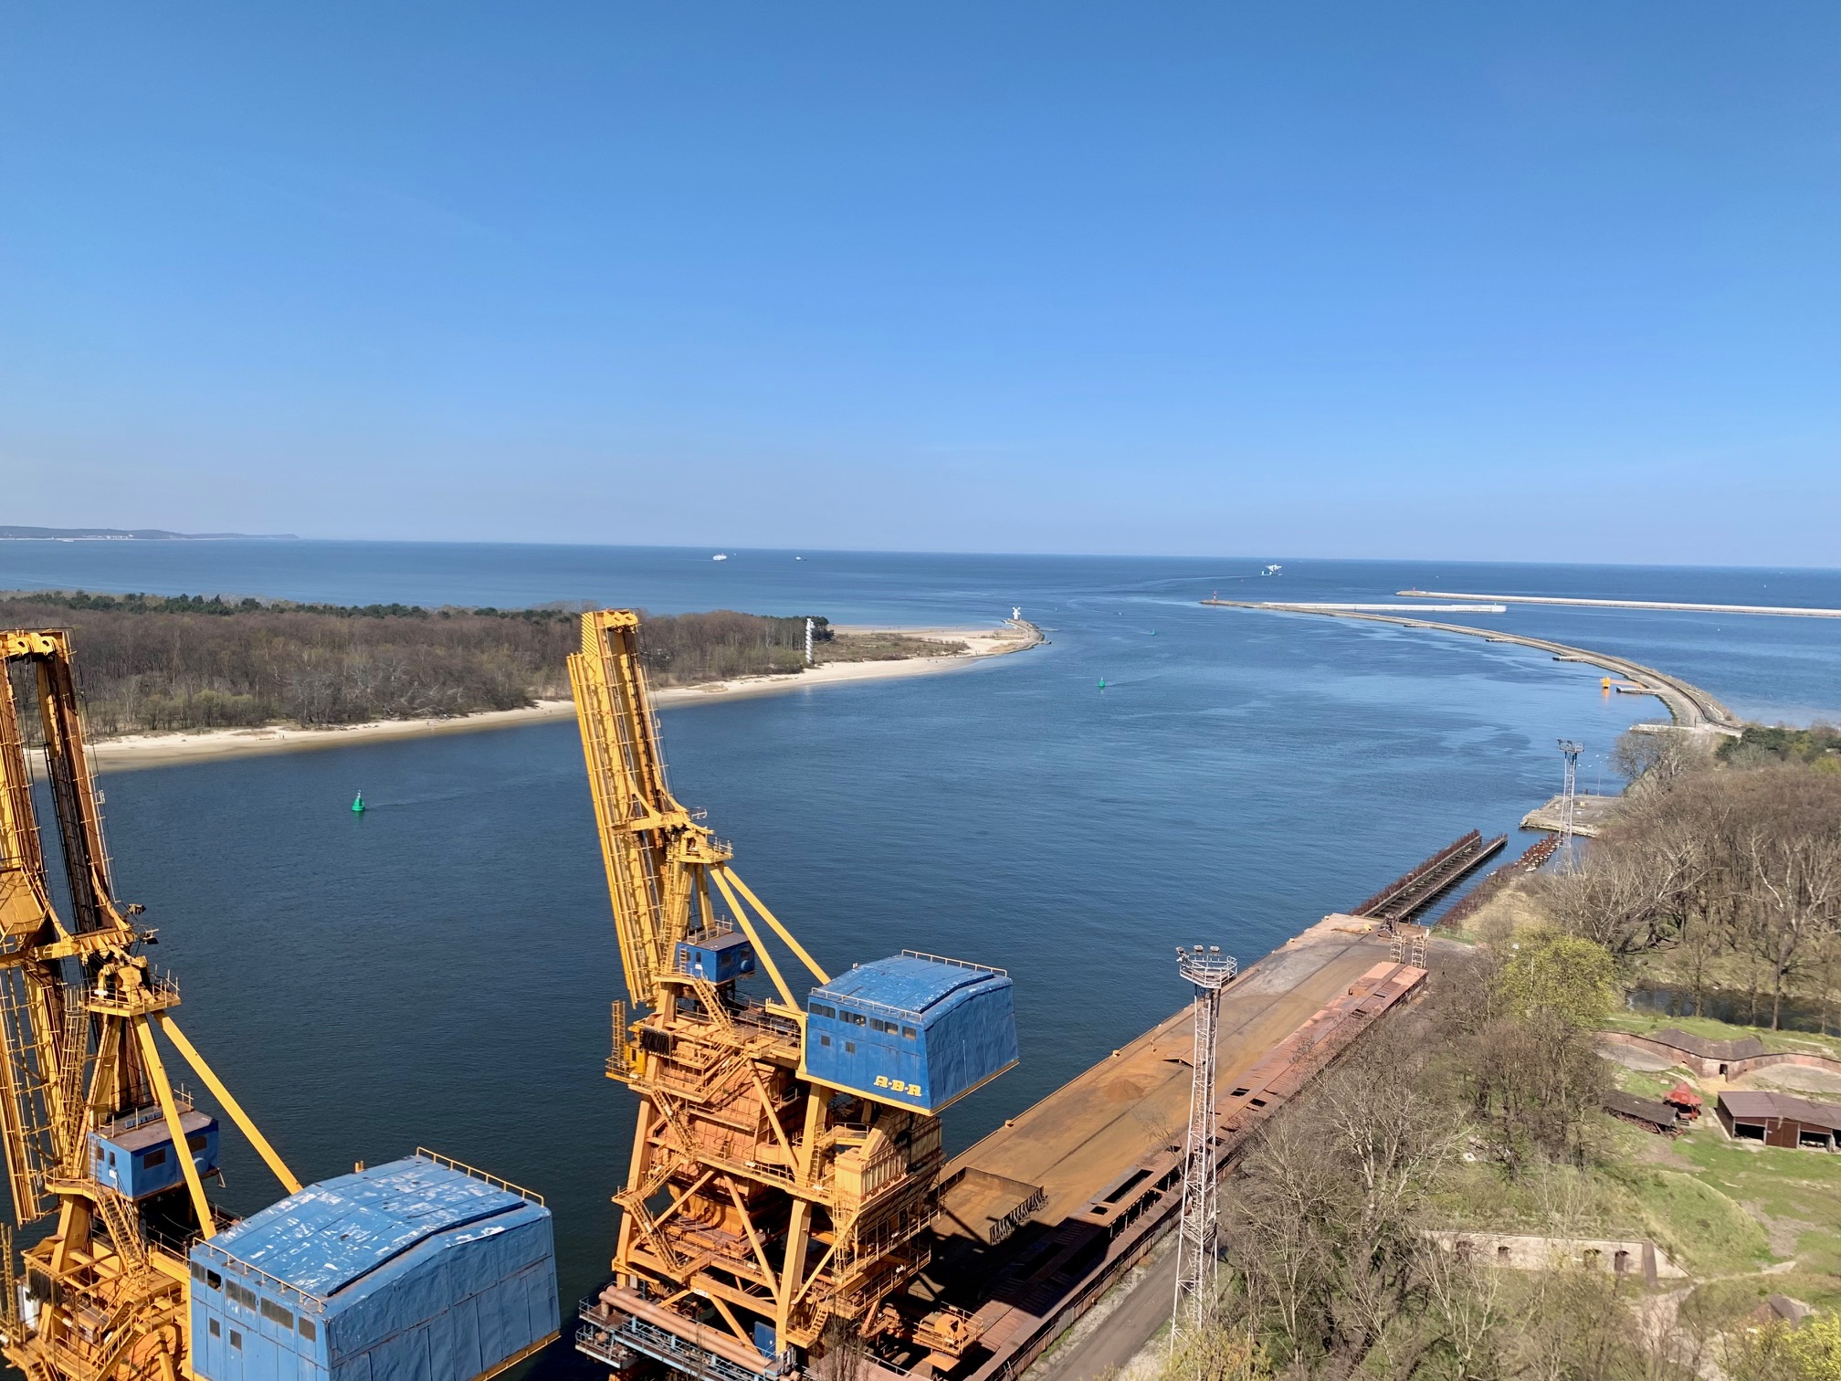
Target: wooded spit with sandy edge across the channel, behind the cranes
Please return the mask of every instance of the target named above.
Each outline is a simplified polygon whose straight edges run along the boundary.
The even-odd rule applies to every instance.
[[[68,628],[101,770],[510,727],[573,714],[578,604],[333,606],[0,593],[0,626]],[[845,628],[718,609],[646,617],[661,703],[915,676],[1042,641],[1000,628]],[[24,692],[26,687],[17,687]]]

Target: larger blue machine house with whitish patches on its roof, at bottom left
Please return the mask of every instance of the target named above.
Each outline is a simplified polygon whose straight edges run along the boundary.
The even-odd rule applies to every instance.
[[[422,1156],[193,1247],[191,1282],[206,1381],[466,1381],[558,1326],[549,1210]]]

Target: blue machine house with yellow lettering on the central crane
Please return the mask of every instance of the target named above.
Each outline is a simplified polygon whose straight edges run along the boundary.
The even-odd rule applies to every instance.
[[[878,1103],[939,1112],[1016,1064],[1002,969],[902,950],[806,998],[799,1073]]]

